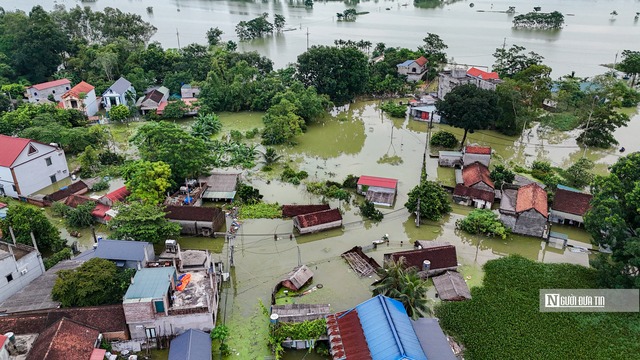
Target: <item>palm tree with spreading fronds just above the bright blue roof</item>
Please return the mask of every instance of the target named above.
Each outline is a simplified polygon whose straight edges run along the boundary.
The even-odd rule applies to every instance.
[[[381,279],[375,284],[373,295],[384,295],[400,301],[407,315],[415,320],[431,313],[427,299],[429,287],[415,267],[406,266],[402,257],[397,262],[392,261],[385,269],[378,270]]]

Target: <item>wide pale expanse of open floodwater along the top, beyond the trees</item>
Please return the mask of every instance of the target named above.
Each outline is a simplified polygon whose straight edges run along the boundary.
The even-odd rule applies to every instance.
[[[70,0],[42,1],[2,0],[6,10],[28,11],[34,5],[45,9],[55,3],[72,7]],[[616,53],[633,49],[640,43],[640,27],[634,15],[640,3],[632,0],[479,0],[446,1],[449,5],[417,8],[412,1],[316,1],[305,8],[303,1],[233,1],[233,0],[98,0],[83,5],[99,10],[107,6],[140,14],[158,28],[153,40],[165,47],[178,47],[193,42],[205,43],[205,32],[211,27],[224,31],[223,39],[237,40],[235,26],[263,12],[282,14],[287,30],[276,36],[241,43],[241,50],[257,50],[282,67],[295,62],[307,45],[333,44],[336,39],[368,40],[373,44],[415,48],[427,32],[439,34],[447,51],[457,63],[490,66],[496,48],[518,44],[543,55],[545,63],[561,76],[576,71],[579,76],[601,73],[600,64],[613,63]],[[504,13],[516,5],[516,13],[560,11],[565,27],[560,31],[514,30],[512,16]],[[153,13],[147,7],[153,7]],[[355,22],[338,22],[335,15],[347,8],[369,12]],[[619,15],[610,13],[616,10]],[[307,34],[308,33],[308,34]]]

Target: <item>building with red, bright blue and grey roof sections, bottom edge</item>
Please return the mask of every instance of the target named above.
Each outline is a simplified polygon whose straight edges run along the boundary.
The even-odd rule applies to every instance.
[[[455,360],[437,319],[411,320],[401,302],[375,296],[327,316],[331,359]]]

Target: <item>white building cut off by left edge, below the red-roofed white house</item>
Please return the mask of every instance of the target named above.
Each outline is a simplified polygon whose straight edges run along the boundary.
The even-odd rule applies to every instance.
[[[42,274],[44,265],[36,249],[0,241],[0,303]]]

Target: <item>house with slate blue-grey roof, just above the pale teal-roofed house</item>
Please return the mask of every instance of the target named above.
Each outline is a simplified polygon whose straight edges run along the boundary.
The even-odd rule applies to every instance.
[[[130,240],[99,240],[93,246],[93,253],[84,256],[110,260],[124,269],[141,269],[156,259],[153,244]]]

